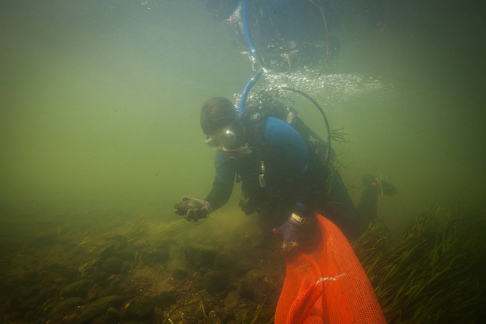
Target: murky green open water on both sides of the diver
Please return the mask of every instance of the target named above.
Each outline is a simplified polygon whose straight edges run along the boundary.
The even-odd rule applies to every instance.
[[[482,197],[477,15],[451,3],[379,5],[337,7],[339,51],[318,82],[290,85],[349,134],[335,145],[348,185],[367,173],[396,185],[382,217],[406,220],[462,189]],[[208,192],[213,152],[199,107],[240,93],[253,71],[204,2],[2,7],[2,218],[150,206],[171,219],[182,194]]]

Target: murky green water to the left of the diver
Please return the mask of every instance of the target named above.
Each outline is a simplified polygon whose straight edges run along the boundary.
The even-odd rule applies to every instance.
[[[147,204],[170,212],[183,188],[207,189],[213,152],[200,145],[198,109],[252,74],[221,23],[172,2],[11,7],[2,19],[6,217]]]

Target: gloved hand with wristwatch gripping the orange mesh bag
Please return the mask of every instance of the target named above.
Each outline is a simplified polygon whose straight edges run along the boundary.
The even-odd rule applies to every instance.
[[[314,215],[310,208],[297,203],[297,207],[289,220],[278,228],[273,228],[273,234],[282,242],[282,250],[288,252],[302,245],[315,230]]]

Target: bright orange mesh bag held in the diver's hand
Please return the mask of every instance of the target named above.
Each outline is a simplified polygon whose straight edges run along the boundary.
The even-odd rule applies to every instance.
[[[348,240],[315,214],[317,232],[306,250],[286,255],[287,274],[275,324],[386,323],[365,270]]]

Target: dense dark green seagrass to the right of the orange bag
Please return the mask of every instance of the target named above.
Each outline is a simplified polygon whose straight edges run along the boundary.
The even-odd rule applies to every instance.
[[[481,322],[486,213],[456,196],[413,217],[397,244],[382,222],[353,248],[388,323]]]

